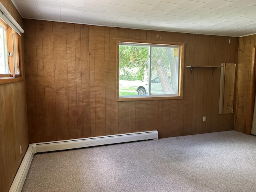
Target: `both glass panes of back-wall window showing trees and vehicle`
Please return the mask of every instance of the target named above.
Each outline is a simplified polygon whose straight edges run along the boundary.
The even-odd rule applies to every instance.
[[[119,44],[119,96],[178,94],[179,46]]]

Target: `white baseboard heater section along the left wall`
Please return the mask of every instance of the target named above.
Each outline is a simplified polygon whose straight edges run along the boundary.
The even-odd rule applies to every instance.
[[[34,148],[32,145],[28,146],[28,150],[20,164],[18,172],[12,182],[12,185],[9,189],[9,192],[21,192],[23,184],[25,182],[26,176],[28,174],[28,170],[30,168],[30,164],[32,162],[34,156]]]

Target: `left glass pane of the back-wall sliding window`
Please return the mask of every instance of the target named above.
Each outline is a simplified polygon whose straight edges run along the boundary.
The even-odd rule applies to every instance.
[[[119,44],[119,96],[148,94],[149,46]]]

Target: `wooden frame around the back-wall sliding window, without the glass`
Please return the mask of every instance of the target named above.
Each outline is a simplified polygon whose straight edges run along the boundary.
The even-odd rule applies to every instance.
[[[152,46],[164,46],[172,45],[179,46],[179,68],[178,68],[178,94],[175,96],[170,95],[146,95],[146,96],[119,96],[119,44],[148,44]],[[171,100],[171,99],[183,99],[183,78],[184,78],[184,51],[185,42],[166,42],[166,41],[152,41],[152,40],[134,40],[116,38],[116,101],[146,101],[146,100]]]

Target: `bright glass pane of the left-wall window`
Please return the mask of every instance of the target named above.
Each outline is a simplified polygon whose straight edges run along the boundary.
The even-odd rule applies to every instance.
[[[0,25],[0,74],[10,74],[7,54],[6,28]]]

